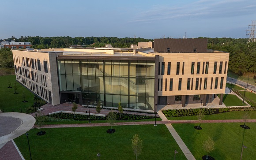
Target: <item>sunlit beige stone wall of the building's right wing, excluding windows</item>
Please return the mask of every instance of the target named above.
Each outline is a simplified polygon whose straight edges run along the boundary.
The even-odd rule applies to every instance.
[[[158,96],[174,96],[174,95],[197,95],[197,94],[216,94],[216,93],[225,93],[226,87],[226,76],[227,76],[227,69],[228,69],[228,61],[229,61],[229,53],[227,52],[214,52],[214,53],[154,53],[155,55],[159,55],[159,62],[160,62],[160,75],[158,78],[160,79],[161,86],[161,78],[163,78],[162,84],[162,92],[158,91]],[[222,74],[219,74],[219,66],[220,62],[222,64]],[[162,62],[165,62],[165,73],[161,75],[161,65]],[[171,73],[167,75],[168,69],[168,62],[171,62]],[[176,75],[176,68],[177,62],[180,62],[180,74]],[[182,74],[182,67],[184,62],[184,74]],[[195,62],[194,67],[194,74],[191,74],[191,64]],[[200,74],[196,74],[197,69],[197,62],[200,62]],[[203,71],[203,62],[204,64],[204,74]],[[205,65],[206,62],[209,62],[209,69],[208,74],[205,74]],[[216,74],[214,72],[214,63],[218,62]],[[224,74],[225,69],[225,62],[226,64],[226,74]],[[156,64],[158,65],[158,64]],[[218,89],[215,89],[215,78],[218,77]],[[223,81],[223,88],[220,89],[220,82],[221,77],[224,77]],[[165,91],[165,84],[167,78],[167,90]],[[169,91],[169,80],[173,78],[173,90]],[[182,78],[182,86],[181,90],[178,90],[178,81],[179,78]],[[187,90],[187,82],[188,78],[193,79],[193,89],[191,90],[191,83],[190,83],[190,90]],[[199,78],[199,87],[198,90],[195,89],[196,87],[196,78]],[[202,78],[202,84],[200,89],[200,78]],[[207,89],[203,89],[204,85],[204,78],[207,78]],[[213,78],[213,84],[211,89],[211,78]]]

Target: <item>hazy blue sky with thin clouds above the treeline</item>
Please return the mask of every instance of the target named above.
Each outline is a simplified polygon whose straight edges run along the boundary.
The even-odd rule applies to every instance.
[[[2,0],[0,39],[15,36],[246,38],[255,0]]]

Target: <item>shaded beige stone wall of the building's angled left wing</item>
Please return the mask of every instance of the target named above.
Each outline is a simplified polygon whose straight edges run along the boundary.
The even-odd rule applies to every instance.
[[[30,78],[26,78],[24,75],[20,75],[16,73],[16,80],[19,81],[23,86],[26,86],[26,88],[30,89],[30,82],[34,83],[34,85],[38,85],[38,93],[35,87],[35,92],[32,89],[32,92],[37,94],[39,97],[44,99],[49,103],[49,92],[51,92],[52,96],[52,104],[57,105],[60,104],[60,93],[59,93],[59,83],[58,83],[58,75],[57,75],[57,64],[56,64],[56,56],[60,55],[60,53],[47,53],[47,52],[33,52],[33,51],[25,51],[25,50],[12,50],[13,57],[15,59],[15,56],[19,57],[18,63],[16,60],[14,60],[14,64],[17,67],[26,68],[30,71]],[[23,64],[23,58],[25,63]],[[36,65],[33,68],[26,67],[26,58],[34,59],[36,60],[36,64],[34,62],[34,65]],[[38,70],[38,63],[37,60],[40,60],[41,63],[41,71]],[[44,61],[47,61],[47,68],[48,73],[45,73],[44,70]],[[32,80],[31,71],[34,73],[37,73],[38,76],[34,76],[34,81]],[[18,76],[18,78],[17,78]],[[42,76],[42,79],[41,79]],[[43,78],[46,78],[46,84],[43,82]],[[20,80],[20,78],[24,78],[26,80],[26,84]],[[44,96],[41,96],[40,87],[47,89],[47,98]],[[48,99],[48,100],[47,100]]]

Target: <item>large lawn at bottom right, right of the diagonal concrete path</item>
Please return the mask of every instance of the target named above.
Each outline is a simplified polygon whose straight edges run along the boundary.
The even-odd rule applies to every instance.
[[[172,125],[196,160],[207,154],[202,148],[207,136],[211,136],[215,141],[215,150],[210,153],[215,160],[239,160],[242,144],[248,147],[243,151],[243,160],[255,160],[256,123],[246,123],[251,127],[249,130],[241,128],[242,124],[202,123],[202,130],[194,129],[196,124]]]

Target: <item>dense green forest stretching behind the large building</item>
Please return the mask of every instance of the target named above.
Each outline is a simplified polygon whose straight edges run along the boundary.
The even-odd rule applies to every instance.
[[[199,37],[207,38],[207,37]],[[111,44],[113,47],[130,47],[138,42],[154,41],[144,38],[118,37],[11,37],[15,41],[31,42],[32,48],[68,48],[69,45],[85,47],[102,47]],[[230,52],[229,69],[238,75],[256,71],[256,42],[247,44],[246,38],[207,38],[208,49]],[[13,67],[9,49],[0,49],[0,66]]]

